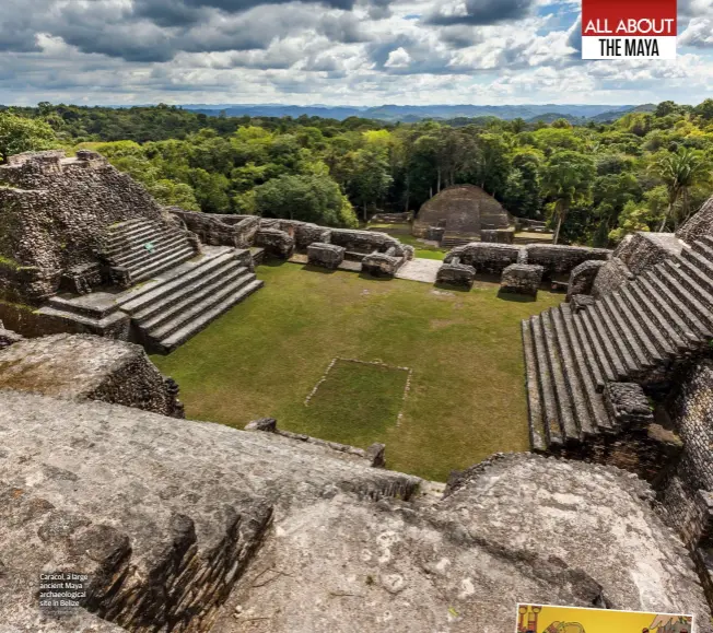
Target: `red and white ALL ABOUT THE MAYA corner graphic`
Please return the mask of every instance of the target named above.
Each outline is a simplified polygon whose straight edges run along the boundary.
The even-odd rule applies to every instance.
[[[582,0],[582,59],[676,59],[677,0]]]

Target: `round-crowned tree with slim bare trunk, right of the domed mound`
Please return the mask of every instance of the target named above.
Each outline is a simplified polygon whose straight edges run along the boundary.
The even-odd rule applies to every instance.
[[[589,201],[595,174],[591,157],[566,150],[553,154],[545,166],[542,190],[552,201],[554,244],[559,242],[570,208]]]

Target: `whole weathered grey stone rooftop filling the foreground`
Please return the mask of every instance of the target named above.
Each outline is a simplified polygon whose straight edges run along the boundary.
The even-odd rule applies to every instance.
[[[425,502],[426,482],[319,444],[11,390],[0,444],[11,630],[501,633],[526,594],[711,631],[651,489],[616,469],[499,456]],[[83,609],[37,609],[50,567],[90,576]]]

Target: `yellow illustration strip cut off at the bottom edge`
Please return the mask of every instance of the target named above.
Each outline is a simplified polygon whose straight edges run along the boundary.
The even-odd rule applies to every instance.
[[[691,616],[519,605],[516,633],[692,633]]]

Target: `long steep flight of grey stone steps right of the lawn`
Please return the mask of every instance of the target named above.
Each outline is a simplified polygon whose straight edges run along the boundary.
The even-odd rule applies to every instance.
[[[607,383],[655,390],[713,339],[713,238],[650,268],[588,305],[562,304],[523,321],[533,450],[575,449],[617,429]]]

